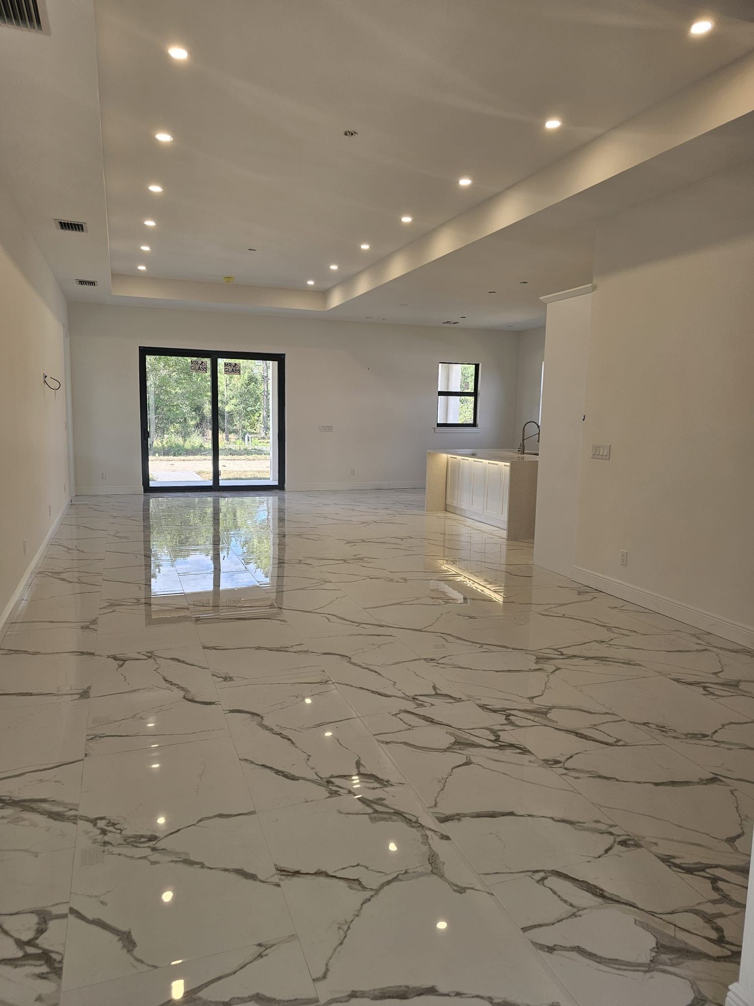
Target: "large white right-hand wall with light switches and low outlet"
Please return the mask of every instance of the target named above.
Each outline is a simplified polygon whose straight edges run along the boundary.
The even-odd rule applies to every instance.
[[[643,203],[598,235],[576,559],[754,644],[752,170]],[[546,399],[549,378],[546,363]],[[609,462],[589,459],[595,442]]]

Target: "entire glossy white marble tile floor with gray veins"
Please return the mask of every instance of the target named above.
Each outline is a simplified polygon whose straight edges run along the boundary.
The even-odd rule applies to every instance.
[[[721,1006],[754,654],[414,491],[76,498],[0,641],[0,1003]]]

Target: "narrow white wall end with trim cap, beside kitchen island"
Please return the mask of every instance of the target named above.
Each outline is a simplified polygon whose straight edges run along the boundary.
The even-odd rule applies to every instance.
[[[587,293],[547,305],[534,561],[564,576],[571,575],[576,558],[582,415],[593,296]]]

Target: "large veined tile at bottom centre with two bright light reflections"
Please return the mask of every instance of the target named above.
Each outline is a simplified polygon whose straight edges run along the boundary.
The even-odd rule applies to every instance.
[[[260,817],[323,1003],[571,1004],[407,787]]]

